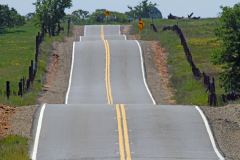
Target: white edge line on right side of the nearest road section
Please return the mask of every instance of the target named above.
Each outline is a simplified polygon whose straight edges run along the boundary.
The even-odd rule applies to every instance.
[[[209,126],[209,123],[208,123],[208,120],[207,120],[205,114],[204,114],[203,111],[200,109],[200,107],[195,106],[195,108],[197,109],[197,111],[200,113],[200,115],[201,115],[201,117],[202,117],[202,120],[203,120],[203,122],[204,122],[204,124],[205,124],[205,127],[206,127],[206,129],[207,129],[208,136],[209,136],[209,138],[210,138],[210,141],[211,141],[211,143],[212,143],[212,147],[213,147],[215,153],[217,154],[219,160],[224,160],[224,157],[223,157],[222,154],[219,152],[219,150],[218,150],[218,148],[217,148],[217,146],[216,146],[215,139],[214,139],[214,137],[213,137],[211,128],[210,128],[210,126]]]

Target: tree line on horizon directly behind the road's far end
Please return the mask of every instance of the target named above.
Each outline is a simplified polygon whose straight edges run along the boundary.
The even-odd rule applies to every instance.
[[[104,22],[128,23],[129,21],[140,17],[162,19],[162,13],[156,6],[156,3],[152,3],[149,0],[143,0],[134,7],[127,6],[129,11],[125,13],[109,11],[110,15],[108,17],[104,15],[104,12],[107,9],[96,9],[93,13],[79,9],[73,11],[72,14],[68,15],[68,17],[71,17],[75,24],[92,24]]]

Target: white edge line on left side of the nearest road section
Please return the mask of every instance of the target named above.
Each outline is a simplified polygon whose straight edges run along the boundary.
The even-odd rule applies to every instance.
[[[42,128],[42,120],[43,120],[43,114],[44,114],[45,108],[46,108],[46,104],[43,104],[43,106],[41,107],[39,118],[38,118],[37,131],[36,131],[34,145],[33,145],[32,160],[37,159],[38,143],[39,143],[39,137],[40,137],[41,128]]]

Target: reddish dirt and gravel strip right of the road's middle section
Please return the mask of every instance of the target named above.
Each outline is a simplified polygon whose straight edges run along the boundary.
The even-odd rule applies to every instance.
[[[159,42],[141,41],[146,79],[157,104],[175,104],[167,66],[167,53]]]

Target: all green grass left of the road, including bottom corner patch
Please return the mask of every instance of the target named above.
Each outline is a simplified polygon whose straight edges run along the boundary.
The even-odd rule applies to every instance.
[[[66,25],[64,25],[66,28]],[[42,91],[43,79],[46,72],[47,60],[52,51],[53,41],[62,41],[66,33],[49,38],[45,37],[41,44],[38,73],[31,91],[23,98],[17,96],[18,81],[28,76],[28,67],[34,60],[35,36],[38,28],[28,22],[24,26],[9,29],[0,33],[0,104],[23,106],[36,104],[37,97]],[[5,83],[11,82],[11,97],[5,96]],[[27,160],[28,140],[21,136],[8,136],[0,139],[0,160]]]

